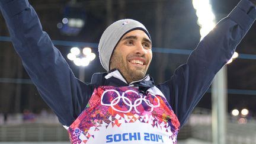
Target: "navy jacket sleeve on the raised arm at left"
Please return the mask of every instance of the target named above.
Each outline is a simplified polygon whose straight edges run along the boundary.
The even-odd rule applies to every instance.
[[[12,44],[41,97],[60,123],[71,125],[86,106],[92,88],[75,78],[27,0],[1,0],[0,8]]]

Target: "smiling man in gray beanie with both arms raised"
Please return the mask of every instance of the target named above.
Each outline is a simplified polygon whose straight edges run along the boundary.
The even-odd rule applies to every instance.
[[[41,97],[68,130],[72,143],[177,143],[178,131],[256,18],[242,0],[178,67],[155,85],[146,75],[151,37],[135,20],[104,31],[99,55],[105,73],[88,84],[73,75],[27,0],[1,0],[12,43]],[[161,63],[161,62],[159,62]]]

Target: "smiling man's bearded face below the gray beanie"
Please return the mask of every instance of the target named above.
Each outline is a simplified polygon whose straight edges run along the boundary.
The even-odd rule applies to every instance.
[[[119,69],[128,84],[142,79],[151,63],[151,48],[151,40],[144,31],[130,31],[117,44],[110,60],[110,69]]]

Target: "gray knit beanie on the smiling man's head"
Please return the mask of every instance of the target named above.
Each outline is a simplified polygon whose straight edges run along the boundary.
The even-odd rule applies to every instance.
[[[98,52],[101,65],[103,65],[103,68],[107,72],[110,71],[110,58],[113,54],[114,48],[126,33],[137,29],[145,31],[149,39],[151,39],[146,27],[139,23],[139,21],[131,19],[116,21],[105,29],[100,39]]]

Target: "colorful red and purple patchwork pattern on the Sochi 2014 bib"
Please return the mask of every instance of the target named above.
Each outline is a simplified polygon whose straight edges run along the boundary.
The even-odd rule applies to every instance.
[[[92,133],[125,123],[146,123],[169,133],[169,142],[176,143],[180,123],[167,100],[151,92],[143,94],[132,87],[95,88],[81,115],[69,127],[72,143],[87,143]]]

